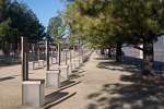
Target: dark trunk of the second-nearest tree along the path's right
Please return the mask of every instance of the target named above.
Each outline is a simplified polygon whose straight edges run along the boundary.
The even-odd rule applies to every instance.
[[[117,43],[116,62],[121,62],[121,43]]]

